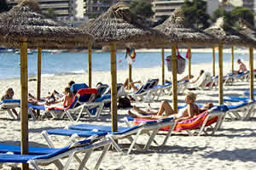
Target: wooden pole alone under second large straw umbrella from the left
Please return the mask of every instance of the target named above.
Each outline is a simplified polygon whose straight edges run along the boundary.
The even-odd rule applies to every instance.
[[[111,118],[112,118],[112,131],[117,132],[117,88],[116,88],[116,43],[110,43],[111,53]]]

